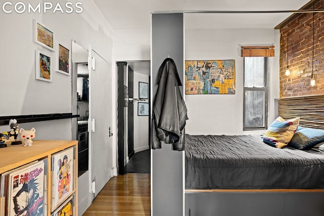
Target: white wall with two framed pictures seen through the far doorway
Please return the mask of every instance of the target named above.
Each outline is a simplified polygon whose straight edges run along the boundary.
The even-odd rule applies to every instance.
[[[138,98],[138,82],[148,83],[149,76],[134,71],[134,98]],[[140,101],[149,103],[149,100]],[[138,102],[134,102],[134,151],[135,153],[149,149],[148,127],[149,116],[138,116]]]

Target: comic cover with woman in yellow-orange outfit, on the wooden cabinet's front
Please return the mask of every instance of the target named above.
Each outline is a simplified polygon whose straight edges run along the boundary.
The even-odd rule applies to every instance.
[[[53,211],[73,193],[74,148],[68,148],[52,156],[52,209]]]

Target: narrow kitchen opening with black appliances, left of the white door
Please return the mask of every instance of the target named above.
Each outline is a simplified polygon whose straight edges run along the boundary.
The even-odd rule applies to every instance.
[[[78,140],[78,206],[84,212],[91,204],[89,171],[89,68],[88,49],[72,40],[72,113],[80,117],[72,119],[72,139]]]

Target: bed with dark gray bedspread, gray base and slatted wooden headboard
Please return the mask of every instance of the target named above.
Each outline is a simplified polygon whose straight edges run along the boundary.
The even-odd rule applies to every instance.
[[[324,95],[283,98],[278,115],[324,129]],[[324,142],[275,148],[260,135],[186,135],[185,215],[324,215]]]

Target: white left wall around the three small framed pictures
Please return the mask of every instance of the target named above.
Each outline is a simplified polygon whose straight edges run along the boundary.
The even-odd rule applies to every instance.
[[[35,6],[43,1],[30,0]],[[63,2],[63,1],[59,1]],[[72,1],[74,2],[74,1]],[[52,71],[53,82],[35,79],[35,50],[46,50],[33,42],[32,19],[36,19],[55,33],[55,42],[71,49],[71,40],[82,47],[95,50],[108,62],[112,60],[112,28],[101,15],[92,0],[82,1],[84,11],[77,13],[22,13],[0,11],[0,93],[5,99],[0,106],[0,116],[68,113],[72,112],[71,77]],[[26,2],[27,4],[27,2]],[[54,4],[54,3],[53,3]],[[62,4],[64,6],[65,2]],[[57,44],[56,44],[57,45]],[[56,52],[55,52],[56,54]],[[115,106],[115,101],[113,101]],[[35,127],[35,139],[71,140],[71,119],[19,123],[19,127]],[[112,124],[114,130],[115,123]],[[9,125],[0,126],[0,132],[8,131]],[[89,181],[88,181],[89,182]],[[85,200],[79,205],[82,214],[91,204],[86,197],[90,185],[79,181],[79,193]],[[89,189],[89,190],[88,190]],[[81,192],[81,191],[80,191]]]

